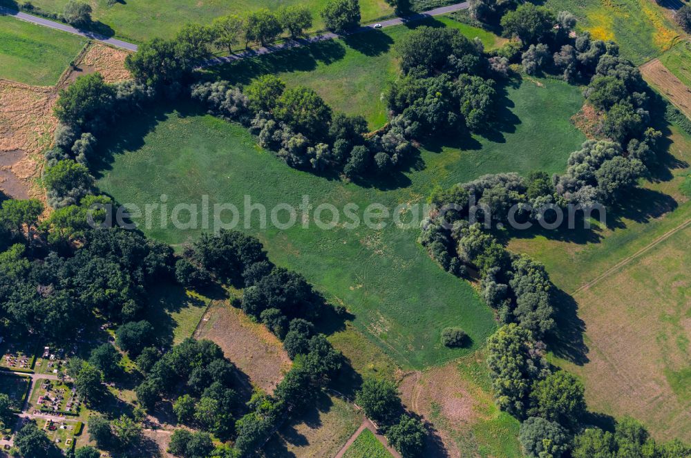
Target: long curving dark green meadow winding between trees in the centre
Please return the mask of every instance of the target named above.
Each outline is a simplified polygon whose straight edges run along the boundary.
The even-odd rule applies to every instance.
[[[268,209],[278,203],[298,207],[310,195],[314,209],[322,202],[339,208],[347,202],[361,211],[372,202],[394,208],[422,202],[435,184],[448,186],[482,173],[564,168],[570,151],[583,136],[569,124],[583,99],[578,88],[545,80],[507,88],[502,103],[502,131],[484,137],[460,137],[426,145],[417,164],[377,187],[361,187],[290,169],[272,153],[256,147],[245,129],[196,108],[132,117],[119,132],[100,140],[102,153],[113,157],[102,167],[99,186],[119,202],[240,204],[244,195]],[[256,223],[256,212],[254,222]],[[252,221],[250,221],[252,222]],[[173,245],[194,238],[200,229],[178,231],[142,228],[149,236]],[[417,229],[322,231],[310,225],[288,230],[274,227],[252,233],[261,238],[278,264],[300,271],[329,300],[343,303],[356,315],[354,324],[404,368],[422,368],[456,358],[480,347],[493,331],[491,311],[470,285],[444,273],[420,248]],[[432,288],[431,285],[434,285]],[[473,341],[468,349],[450,350],[439,332],[460,325]]]

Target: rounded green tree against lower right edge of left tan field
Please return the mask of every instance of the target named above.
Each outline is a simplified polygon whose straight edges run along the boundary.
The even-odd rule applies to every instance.
[[[77,204],[93,187],[93,177],[83,164],[61,160],[46,170],[44,185],[48,204],[54,208]]]

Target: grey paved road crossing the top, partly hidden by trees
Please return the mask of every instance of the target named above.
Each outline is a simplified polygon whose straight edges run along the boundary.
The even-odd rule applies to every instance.
[[[429,10],[427,12],[418,13],[418,14],[412,15],[412,16],[397,17],[395,19],[388,19],[387,21],[381,21],[380,24],[382,27],[397,26],[397,25],[403,24],[403,23],[422,21],[422,19],[426,19],[428,17],[446,15],[450,12],[454,12],[454,11],[458,11],[458,10],[464,10],[466,8],[468,8],[468,2],[467,1],[464,3],[456,3],[455,5],[444,6],[442,8],[436,8],[435,10]],[[19,12],[19,11],[15,11],[15,10],[10,10],[8,8],[0,7],[0,15],[14,16],[17,19],[21,19],[22,21],[28,21],[31,23],[39,24],[40,26],[46,26],[49,28],[53,28],[55,30],[62,30],[63,32],[69,32],[69,33],[73,33],[75,35],[81,35],[82,37],[87,37],[90,39],[95,39],[97,41],[102,41],[105,44],[109,44],[109,45],[115,46],[117,48],[123,48],[123,49],[131,50],[131,51],[137,50],[137,45],[132,44],[132,43],[128,43],[127,41],[122,41],[122,40],[115,39],[115,38],[108,38],[105,35],[100,35],[98,33],[90,32],[88,30],[78,30],[72,26],[67,26],[64,23],[50,21],[48,19],[44,19],[42,17],[38,17],[38,16],[34,16],[34,15],[28,15],[28,14],[26,14],[26,12]],[[357,30],[353,30],[352,32],[349,32],[348,35],[366,32],[368,30],[373,30],[374,28],[375,28],[375,24],[370,24],[368,26],[362,26],[361,28],[359,28]],[[336,35],[334,33],[325,33],[323,35],[316,35],[315,37],[311,37],[311,38],[307,38],[307,39],[286,41],[285,43],[277,45],[277,46],[269,46],[267,48],[258,48],[258,49],[254,49],[254,50],[245,51],[244,53],[240,53],[240,54],[236,54],[236,55],[231,55],[231,56],[227,56],[227,57],[217,57],[216,59],[210,59],[209,61],[205,62],[202,66],[211,66],[211,65],[216,65],[216,64],[223,64],[224,62],[231,62],[231,61],[236,61],[239,59],[245,59],[245,57],[254,57],[257,55],[275,53],[276,51],[280,51],[283,49],[296,48],[297,46],[304,46],[305,44],[314,43],[316,41],[324,41],[324,40],[328,40],[328,39],[333,39],[333,38],[336,38],[337,36],[338,35]]]

